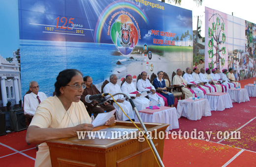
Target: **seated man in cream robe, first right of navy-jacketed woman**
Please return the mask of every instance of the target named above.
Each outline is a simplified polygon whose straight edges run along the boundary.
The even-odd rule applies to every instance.
[[[173,77],[172,84],[173,85],[184,85],[184,87],[182,87],[181,89],[185,93],[185,99],[192,97],[193,94],[190,91],[190,89],[188,88],[186,80],[181,76],[182,70],[177,69],[176,72],[177,72],[177,74]]]

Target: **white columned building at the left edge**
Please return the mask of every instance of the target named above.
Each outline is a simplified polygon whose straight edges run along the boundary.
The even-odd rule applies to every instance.
[[[11,106],[19,104],[21,98],[20,64],[13,51],[13,61],[8,62],[0,56],[0,107],[11,102]]]

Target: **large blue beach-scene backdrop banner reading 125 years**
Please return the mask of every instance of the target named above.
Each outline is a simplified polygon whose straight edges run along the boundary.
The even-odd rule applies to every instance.
[[[192,65],[192,11],[157,0],[19,0],[19,27],[23,95],[32,80],[52,95],[67,68],[99,88]]]

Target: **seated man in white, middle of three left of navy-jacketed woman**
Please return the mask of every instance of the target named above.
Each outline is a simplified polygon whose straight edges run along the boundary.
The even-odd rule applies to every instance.
[[[121,90],[122,92],[129,94],[138,111],[149,107],[149,99],[146,97],[140,97],[141,92],[136,90],[134,84],[132,83],[131,75],[126,76],[126,82],[123,83]]]

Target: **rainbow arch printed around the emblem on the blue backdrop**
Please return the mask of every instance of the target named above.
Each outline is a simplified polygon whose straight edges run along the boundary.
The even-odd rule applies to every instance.
[[[96,39],[96,43],[100,43],[100,37],[101,37],[103,26],[108,25],[108,23],[106,23],[107,18],[109,17],[109,15],[113,14],[113,12],[118,9],[122,9],[123,11],[125,11],[126,9],[131,9],[136,13],[138,13],[147,24],[149,22],[148,17],[144,13],[144,11],[140,7],[135,5],[134,2],[124,1],[124,0],[112,2],[101,12],[99,16],[99,19],[96,25],[95,35],[94,35]]]

